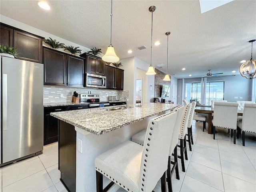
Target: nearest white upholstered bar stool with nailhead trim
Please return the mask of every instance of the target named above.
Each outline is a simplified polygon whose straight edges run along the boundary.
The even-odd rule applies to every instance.
[[[170,112],[151,119],[144,146],[126,141],[95,158],[97,192],[113,183],[129,192],[151,192],[161,178],[166,191],[166,170],[177,113]],[[166,126],[168,125],[168,126]],[[112,182],[103,189],[103,175]]]

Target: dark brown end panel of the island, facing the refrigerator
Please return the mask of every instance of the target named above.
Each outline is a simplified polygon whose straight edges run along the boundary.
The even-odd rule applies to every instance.
[[[60,181],[70,192],[76,191],[76,130],[59,120],[58,166]]]

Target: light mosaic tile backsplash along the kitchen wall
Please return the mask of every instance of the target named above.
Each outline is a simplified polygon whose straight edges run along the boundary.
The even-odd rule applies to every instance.
[[[44,85],[44,103],[53,102],[71,102],[73,92],[100,94],[101,101],[108,101],[108,96],[116,96],[116,100],[124,100],[124,97],[129,96],[128,90],[108,90],[97,88],[75,88],[75,87],[60,87],[60,86],[46,86]],[[63,94],[63,98],[60,95]]]

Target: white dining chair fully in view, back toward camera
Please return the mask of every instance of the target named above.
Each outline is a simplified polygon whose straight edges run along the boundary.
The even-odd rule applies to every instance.
[[[234,144],[236,144],[236,122],[238,103],[215,102],[213,125],[213,139],[215,139],[216,127],[231,129],[231,137],[234,130]]]

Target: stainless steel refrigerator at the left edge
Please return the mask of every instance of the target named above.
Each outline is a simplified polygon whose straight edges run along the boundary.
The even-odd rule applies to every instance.
[[[1,56],[0,166],[42,153],[43,66]]]

